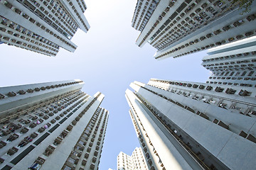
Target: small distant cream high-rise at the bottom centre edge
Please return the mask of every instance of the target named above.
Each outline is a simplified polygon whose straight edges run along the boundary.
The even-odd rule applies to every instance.
[[[132,156],[120,152],[117,156],[117,170],[148,170],[141,147],[136,147]]]

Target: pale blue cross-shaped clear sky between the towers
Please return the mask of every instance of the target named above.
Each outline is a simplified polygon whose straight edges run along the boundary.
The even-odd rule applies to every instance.
[[[105,94],[101,106],[110,111],[110,118],[100,170],[117,169],[119,152],[131,155],[139,147],[124,97],[129,84],[151,78],[206,82],[209,72],[201,66],[206,53],[156,61],[154,47],[135,45],[139,31],[131,25],[137,0],[85,0],[85,4],[90,30],[75,34],[74,53],[60,49],[56,57],[47,57],[0,45],[0,86],[81,79],[85,93]]]

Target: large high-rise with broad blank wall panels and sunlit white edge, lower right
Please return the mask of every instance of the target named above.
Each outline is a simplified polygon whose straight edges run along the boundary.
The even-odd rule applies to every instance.
[[[254,87],[151,79],[127,89],[149,169],[254,169]]]

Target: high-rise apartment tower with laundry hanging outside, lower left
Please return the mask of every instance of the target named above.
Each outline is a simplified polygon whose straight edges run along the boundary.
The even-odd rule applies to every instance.
[[[0,169],[97,169],[109,113],[83,84],[0,88]]]

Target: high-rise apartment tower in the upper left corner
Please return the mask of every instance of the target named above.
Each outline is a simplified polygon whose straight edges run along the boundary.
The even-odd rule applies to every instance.
[[[1,0],[0,42],[43,55],[55,56],[59,48],[74,52],[71,38],[90,26],[83,0]]]

